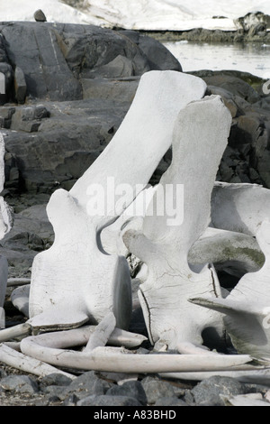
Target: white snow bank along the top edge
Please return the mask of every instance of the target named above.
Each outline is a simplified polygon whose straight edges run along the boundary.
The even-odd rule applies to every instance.
[[[0,0],[0,21],[34,21],[41,9],[49,22],[94,23],[141,30],[236,30],[248,12],[270,14],[269,0],[85,0],[85,10],[60,0]],[[213,19],[221,16],[222,19]]]

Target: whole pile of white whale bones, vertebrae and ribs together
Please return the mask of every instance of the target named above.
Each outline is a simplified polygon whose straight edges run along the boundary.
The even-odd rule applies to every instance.
[[[146,72],[111,143],[69,192],[53,193],[55,241],[34,258],[31,284],[12,293],[27,321],[0,331],[1,362],[38,375],[70,368],[270,382],[270,194],[215,182],[231,115],[205,91],[201,78]],[[148,187],[170,146],[171,165]],[[1,202],[3,238],[11,219]],[[139,304],[130,254],[140,263]],[[230,292],[222,270],[239,279]],[[147,340],[129,331],[137,308],[155,355],[137,354]]]

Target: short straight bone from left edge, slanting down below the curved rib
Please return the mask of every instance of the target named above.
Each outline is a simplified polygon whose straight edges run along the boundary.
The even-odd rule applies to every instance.
[[[76,378],[76,376],[73,374],[65,373],[64,371],[58,370],[58,368],[55,368],[54,366],[40,362],[38,359],[23,355],[4,344],[0,345],[0,361],[25,373],[32,373],[40,377],[44,377],[45,375],[49,375],[51,373],[60,373],[71,379]]]

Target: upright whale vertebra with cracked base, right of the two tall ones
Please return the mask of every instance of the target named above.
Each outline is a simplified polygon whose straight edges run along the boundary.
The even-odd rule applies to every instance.
[[[220,296],[215,272],[207,265],[201,272],[193,272],[187,257],[210,222],[211,190],[230,124],[229,110],[218,96],[192,102],[179,113],[173,160],[149,206],[154,213],[144,218],[141,232],[127,229],[123,235],[130,252],[148,266],[147,278],[139,287],[148,336],[153,344],[160,340],[181,353],[203,352],[194,347],[202,345],[202,330],[220,326],[216,313],[196,309],[188,302],[193,293]],[[162,216],[160,207],[164,204],[166,213]],[[177,222],[181,210],[183,220],[178,217]]]

